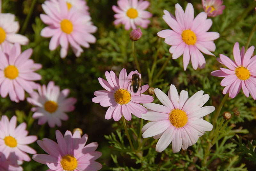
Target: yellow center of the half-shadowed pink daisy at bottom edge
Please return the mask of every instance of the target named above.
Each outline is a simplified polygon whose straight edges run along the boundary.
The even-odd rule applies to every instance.
[[[62,157],[60,164],[63,170],[73,171],[76,169],[76,166],[78,163],[76,158],[73,155],[67,154]]]

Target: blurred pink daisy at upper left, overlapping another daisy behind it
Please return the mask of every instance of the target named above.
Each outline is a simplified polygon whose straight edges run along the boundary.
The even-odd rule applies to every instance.
[[[41,36],[52,37],[50,50],[61,46],[61,58],[67,56],[69,44],[76,57],[79,57],[84,52],[81,46],[89,48],[89,43],[96,42],[96,38],[91,33],[95,33],[97,27],[92,25],[89,15],[82,14],[75,7],[68,9],[65,0],[58,0],[58,3],[59,8],[52,5],[52,1],[45,1],[42,4],[46,15],[40,14],[40,18],[49,26],[42,29]]]

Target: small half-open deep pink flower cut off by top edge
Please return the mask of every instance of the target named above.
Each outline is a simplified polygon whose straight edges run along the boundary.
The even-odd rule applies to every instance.
[[[221,15],[226,7],[222,4],[223,1],[221,0],[202,0],[204,11],[207,13],[208,17],[216,17],[217,15]]]

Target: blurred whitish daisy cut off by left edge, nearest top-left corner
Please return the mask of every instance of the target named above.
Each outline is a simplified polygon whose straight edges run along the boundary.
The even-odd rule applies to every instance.
[[[15,21],[15,15],[11,13],[0,13],[0,50],[3,50],[4,44],[13,45],[19,43],[27,45],[29,40],[26,36],[17,34],[20,29],[18,21]]]

